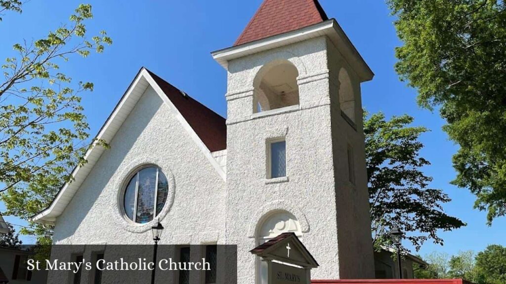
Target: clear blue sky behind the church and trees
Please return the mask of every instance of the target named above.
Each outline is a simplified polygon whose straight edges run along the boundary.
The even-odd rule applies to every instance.
[[[226,71],[210,52],[233,44],[262,0],[185,1],[91,1],[95,18],[87,25],[96,33],[106,30],[114,44],[104,54],[87,59],[72,58],[64,71],[75,81],[92,81],[95,91],[85,94],[83,106],[94,135],[109,116],[125,89],[145,66],[221,115],[226,115]],[[13,56],[12,44],[40,38],[66,23],[81,2],[31,0],[22,15],[7,14],[0,23],[0,57]],[[431,132],[421,139],[422,155],[432,162],[424,170],[434,177],[433,187],[442,188],[452,201],[447,213],[468,223],[452,232],[442,232],[443,247],[426,243],[419,252],[449,254],[459,250],[483,250],[488,244],[506,246],[506,218],[485,224],[485,212],[473,209],[474,196],[449,182],[455,172],[451,156],[457,146],[441,130],[444,121],[437,113],[420,109],[416,91],[400,82],[394,71],[394,48],[399,46],[393,18],[383,1],[320,0],[330,18],[343,27],[376,76],[362,85],[363,106],[369,112],[383,111],[387,117],[409,114],[416,125]],[[282,20],[282,19],[280,19]],[[0,211],[5,205],[0,203]],[[7,216],[15,224],[23,222]],[[24,237],[25,243],[31,239]]]

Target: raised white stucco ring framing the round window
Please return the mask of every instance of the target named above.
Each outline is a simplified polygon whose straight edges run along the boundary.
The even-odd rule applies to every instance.
[[[135,165],[135,166],[134,166]],[[125,165],[122,167],[124,170],[118,175],[118,179],[116,181],[116,188],[118,188],[118,195],[116,198],[116,208],[117,208],[117,218],[118,223],[122,225],[122,227],[131,232],[142,233],[151,229],[152,226],[156,225],[158,220],[162,221],[167,213],[171,210],[173,202],[174,202],[174,194],[176,191],[176,184],[174,179],[174,174],[172,171],[164,166],[161,166],[162,163],[159,159],[136,159],[135,161],[129,163],[129,165]],[[158,215],[156,215],[153,220],[146,223],[136,223],[132,219],[126,215],[124,209],[124,195],[126,192],[126,186],[128,183],[136,175],[140,170],[156,167],[165,175],[168,183],[168,193],[167,200],[163,205],[163,209],[160,211]]]

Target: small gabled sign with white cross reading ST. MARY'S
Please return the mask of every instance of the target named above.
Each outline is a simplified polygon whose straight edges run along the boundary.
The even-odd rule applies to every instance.
[[[310,284],[318,263],[294,233],[282,233],[250,253],[267,262],[268,284]]]

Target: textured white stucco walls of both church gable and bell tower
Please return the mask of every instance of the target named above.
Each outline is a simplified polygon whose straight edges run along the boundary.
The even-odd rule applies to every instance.
[[[286,62],[299,72],[299,105],[253,114],[255,87],[271,67]],[[343,67],[354,86],[357,131],[341,117]],[[227,150],[213,153],[226,182],[148,87],[57,219],[55,242],[150,244],[151,224],[125,220],[121,201],[129,175],[155,164],[172,184],[172,200],[160,214],[167,228],[162,243],[237,244],[238,283],[255,283],[257,260],[248,251],[258,245],[262,222],[283,211],[297,218],[303,243],[320,264],[313,279],[373,277],[360,85],[335,47],[320,37],[235,59],[228,65],[226,100]],[[287,178],[272,182],[266,179],[267,146],[280,137],[286,139]],[[355,153],[355,184],[348,181],[348,145]]]

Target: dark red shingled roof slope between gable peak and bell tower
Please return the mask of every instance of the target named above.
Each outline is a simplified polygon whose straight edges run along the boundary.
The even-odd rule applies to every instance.
[[[147,69],[146,69],[147,70]],[[209,151],[227,149],[226,120],[219,114],[192,99],[188,94],[147,70],[160,86],[165,96],[176,106],[181,115],[207,146]]]

